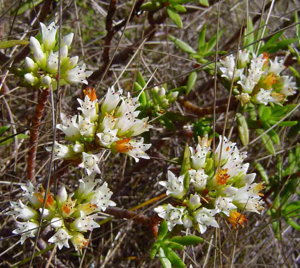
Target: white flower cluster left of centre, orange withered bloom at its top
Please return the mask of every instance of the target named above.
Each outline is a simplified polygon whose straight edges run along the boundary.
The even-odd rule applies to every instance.
[[[133,140],[145,131],[149,131],[152,125],[148,124],[148,117],[138,119],[140,111],[136,111],[140,103],[138,98],[122,96],[122,90],[115,92],[114,87],[108,89],[107,95],[101,105],[101,116],[98,116],[98,100],[95,89],[85,90],[85,99],[77,99],[82,115],[74,115],[68,118],[61,113],[61,124],[57,128],[64,132],[65,139],[73,142],[71,145],[63,145],[55,142],[54,158],[79,158],[82,163],[79,167],[85,168],[89,175],[92,172],[100,173],[99,161],[101,154],[92,154],[90,148],[108,148],[113,152],[125,153],[135,159],[149,159],[146,154],[151,144],[144,144],[144,139]],[[78,117],[78,121],[77,121]],[[46,147],[51,152],[52,147]]]

